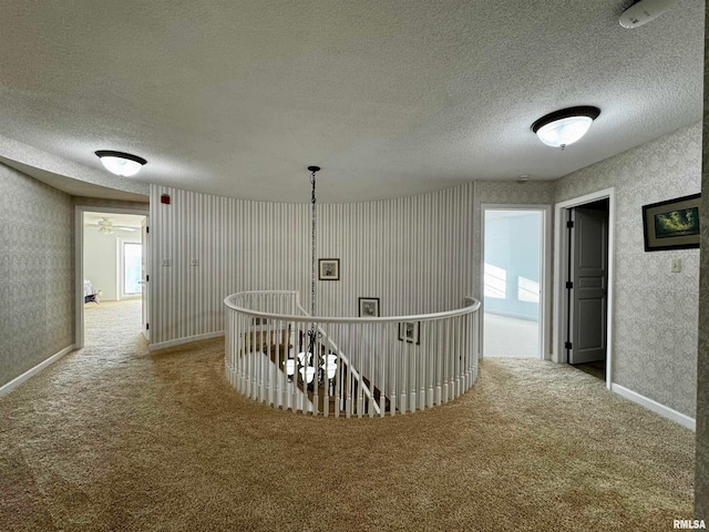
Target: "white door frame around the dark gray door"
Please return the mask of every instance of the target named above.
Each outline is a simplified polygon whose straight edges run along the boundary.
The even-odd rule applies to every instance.
[[[554,205],[554,341],[552,361],[567,364],[568,355],[564,347],[566,341],[566,321],[568,319],[568,301],[566,299],[565,274],[566,257],[569,250],[569,235],[566,231],[566,217],[563,211],[572,207],[582,207],[599,200],[608,200],[608,291],[606,300],[606,388],[610,389],[613,360],[613,293],[614,293],[614,241],[615,241],[615,187],[592,192],[583,196],[566,200]]]

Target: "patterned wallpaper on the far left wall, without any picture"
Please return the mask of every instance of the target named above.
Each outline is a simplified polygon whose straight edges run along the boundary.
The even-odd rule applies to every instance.
[[[0,164],[0,386],[74,342],[71,197]]]

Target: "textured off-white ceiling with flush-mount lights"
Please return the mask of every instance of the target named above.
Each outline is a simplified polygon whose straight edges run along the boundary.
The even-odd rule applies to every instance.
[[[630,3],[3,0],[0,131],[83,182],[121,150],[134,181],[244,198],[307,202],[310,164],[325,202],[553,180],[701,119],[705,2],[626,30]],[[543,145],[571,105],[602,114]]]

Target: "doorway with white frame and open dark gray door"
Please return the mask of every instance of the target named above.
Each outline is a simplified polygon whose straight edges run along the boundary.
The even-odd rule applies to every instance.
[[[555,207],[553,360],[610,387],[614,190]]]

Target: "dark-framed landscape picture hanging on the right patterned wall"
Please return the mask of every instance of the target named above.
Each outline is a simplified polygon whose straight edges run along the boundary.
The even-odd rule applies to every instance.
[[[699,247],[701,194],[643,206],[645,250]]]

